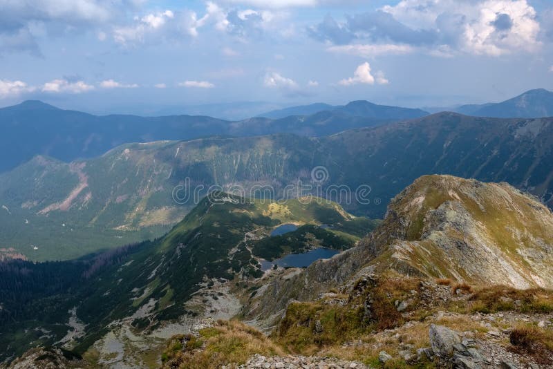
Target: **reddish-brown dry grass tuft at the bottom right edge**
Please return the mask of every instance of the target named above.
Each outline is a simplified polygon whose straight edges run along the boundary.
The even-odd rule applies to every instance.
[[[512,330],[509,340],[514,352],[530,355],[543,365],[553,363],[553,332],[551,330],[543,330],[535,325],[520,324]]]

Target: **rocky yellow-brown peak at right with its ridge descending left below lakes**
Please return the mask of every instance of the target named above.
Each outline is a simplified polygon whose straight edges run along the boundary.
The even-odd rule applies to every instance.
[[[265,287],[246,319],[270,328],[290,301],[398,272],[471,285],[553,287],[553,215],[505,183],[423,176],[397,195],[357,247]]]

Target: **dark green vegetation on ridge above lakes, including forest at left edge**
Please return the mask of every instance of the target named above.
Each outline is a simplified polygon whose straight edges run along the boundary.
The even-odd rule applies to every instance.
[[[321,240],[342,247],[351,245],[356,236],[337,236],[316,225],[347,224],[351,219],[332,202],[277,204],[212,193],[156,240],[78,261],[0,263],[0,277],[6,276],[0,278],[0,294],[6,296],[0,331],[7,332],[0,336],[0,358],[13,353],[8,350],[12,346],[21,354],[30,343],[47,346],[59,341],[68,330],[68,310],[75,307],[86,324],[86,335],[74,347],[78,354],[101,339],[109,323],[128,319],[137,310],[142,313],[131,320],[137,334],[155,330],[162,321],[194,316],[196,312],[187,311],[185,303],[203,286],[238,276],[253,281],[263,275],[250,249],[258,237],[271,240],[270,231],[277,225],[309,223],[306,236],[321,231]],[[245,236],[250,233],[256,237]],[[276,244],[265,249],[273,252],[273,246],[280,250]],[[41,328],[51,333],[44,334]]]

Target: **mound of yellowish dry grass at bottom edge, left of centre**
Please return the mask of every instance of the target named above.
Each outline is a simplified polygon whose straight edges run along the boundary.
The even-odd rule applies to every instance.
[[[239,366],[254,354],[282,355],[265,335],[238,321],[218,321],[200,337],[176,336],[162,355],[163,368],[212,369]]]

